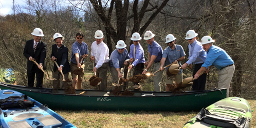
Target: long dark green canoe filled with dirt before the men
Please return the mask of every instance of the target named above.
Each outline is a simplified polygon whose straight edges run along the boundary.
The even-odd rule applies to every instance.
[[[198,111],[218,100],[226,98],[227,89],[205,91],[134,92],[134,96],[108,95],[110,91],[76,90],[65,94],[64,90],[52,93],[50,88],[30,88],[0,83],[0,89],[11,89],[47,104],[50,109],[64,110],[128,110],[128,111]],[[84,92],[85,91],[85,92]],[[83,95],[80,95],[80,93]]]

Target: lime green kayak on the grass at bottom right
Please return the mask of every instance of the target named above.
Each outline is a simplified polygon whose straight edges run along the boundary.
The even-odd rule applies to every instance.
[[[251,119],[249,103],[243,98],[229,97],[203,108],[183,128],[249,128]]]

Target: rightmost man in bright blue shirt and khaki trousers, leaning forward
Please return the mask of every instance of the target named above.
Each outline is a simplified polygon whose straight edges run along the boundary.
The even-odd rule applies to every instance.
[[[229,87],[234,74],[234,61],[227,54],[227,52],[220,47],[212,45],[213,40],[210,36],[204,36],[201,39],[201,44],[204,50],[207,52],[205,63],[197,71],[194,78],[198,79],[199,74],[206,71],[209,72],[212,66],[218,70],[218,88],[227,88],[227,97],[229,96]]]

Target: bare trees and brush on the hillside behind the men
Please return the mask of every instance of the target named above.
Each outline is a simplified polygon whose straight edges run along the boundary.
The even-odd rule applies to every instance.
[[[77,32],[84,34],[84,42],[90,46],[95,41],[94,33],[102,30],[103,41],[109,48],[109,57],[118,40],[124,40],[130,51],[130,40],[134,32],[143,37],[145,31],[151,30],[154,40],[164,50],[168,46],[164,38],[173,34],[176,44],[186,52],[188,60],[188,41],[185,39],[188,30],[195,30],[200,40],[210,35],[214,45],[224,49],[234,60],[235,72],[230,86],[230,96],[255,99],[255,40],[256,40],[256,6],[255,0],[26,0],[25,6],[13,2],[13,14],[0,16],[0,71],[1,81],[27,86],[27,59],[23,56],[26,40],[32,39],[34,28],[44,32],[42,40],[46,42],[47,72],[52,73],[53,62],[50,60],[52,36],[61,33],[64,45],[69,48],[76,41]],[[64,6],[68,2],[70,6]],[[140,40],[148,60],[148,44]],[[89,54],[90,56],[90,54]],[[89,86],[88,79],[93,75],[92,62],[85,61],[85,75],[82,89],[95,89]],[[192,70],[184,70],[183,78],[191,76]],[[152,71],[152,68],[150,70]],[[207,75],[206,89],[217,87],[217,69],[212,68]],[[165,74],[165,73],[164,73]],[[132,74],[129,74],[131,77]],[[112,85],[111,73],[108,72],[108,87]],[[44,79],[44,87],[51,87],[52,82]],[[128,82],[125,88],[132,89]],[[164,77],[161,89],[165,90]],[[153,91],[153,78],[144,83],[142,90]],[[191,90],[188,88],[187,90]]]

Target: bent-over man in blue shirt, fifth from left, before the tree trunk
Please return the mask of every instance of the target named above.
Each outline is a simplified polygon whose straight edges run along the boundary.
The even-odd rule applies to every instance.
[[[123,40],[119,40],[116,45],[116,50],[111,53],[109,59],[109,68],[111,71],[113,82],[117,84],[118,78],[122,78],[122,74],[120,73],[120,69],[124,66],[127,66],[127,61],[129,61],[129,53],[127,51],[126,45]],[[115,87],[112,86],[114,90]],[[123,90],[123,85],[119,87],[119,89]]]

